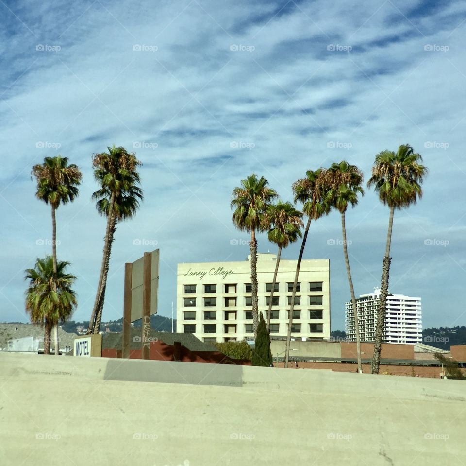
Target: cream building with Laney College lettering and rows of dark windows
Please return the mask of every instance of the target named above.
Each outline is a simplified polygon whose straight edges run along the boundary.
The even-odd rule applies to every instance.
[[[275,254],[257,255],[259,312],[268,309]],[[280,261],[270,321],[271,337],[286,337],[296,260]],[[177,332],[201,341],[253,337],[250,258],[242,262],[178,264]],[[302,260],[292,338],[330,338],[330,261]]]

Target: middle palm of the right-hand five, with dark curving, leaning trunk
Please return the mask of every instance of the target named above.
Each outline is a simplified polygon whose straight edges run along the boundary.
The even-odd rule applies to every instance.
[[[304,235],[302,237],[300,255],[298,257],[298,263],[296,265],[295,281],[293,284],[293,292],[291,294],[290,304],[290,316],[288,323],[288,334],[286,337],[285,346],[285,367],[288,367],[288,361],[290,357],[290,341],[291,341],[291,327],[293,325],[293,309],[295,305],[296,288],[298,285],[298,278],[300,275],[301,260],[304,254],[304,247],[306,245],[307,235],[309,233],[309,227],[311,226],[312,220],[317,220],[323,215],[328,215],[330,212],[330,205],[326,202],[326,196],[323,191],[322,178],[325,174],[325,169],[319,168],[316,171],[308,170],[306,177],[296,181],[293,184],[293,193],[295,196],[295,202],[301,202],[303,204],[302,211],[308,216],[306,228],[304,229]]]

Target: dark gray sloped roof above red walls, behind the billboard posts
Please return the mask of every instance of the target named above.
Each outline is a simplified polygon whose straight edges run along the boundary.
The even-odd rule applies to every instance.
[[[130,349],[141,348],[141,333],[142,328],[136,327],[130,330]],[[180,342],[183,346],[191,351],[218,351],[218,349],[210,343],[204,343],[196,338],[192,333],[169,333],[157,332],[150,330],[150,337],[173,345],[174,342]],[[123,333],[104,333],[102,336],[102,349],[121,349]]]

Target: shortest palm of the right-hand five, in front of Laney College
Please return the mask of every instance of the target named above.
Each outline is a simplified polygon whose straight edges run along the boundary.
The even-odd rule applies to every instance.
[[[277,282],[278,267],[280,265],[280,257],[282,249],[288,247],[290,243],[296,242],[301,238],[301,228],[304,226],[302,222],[302,212],[297,210],[291,202],[278,201],[277,204],[268,206],[264,222],[269,228],[268,241],[278,246],[277,261],[275,264],[275,272],[273,274],[272,290],[270,292],[270,301],[267,311],[267,331],[270,331],[270,315],[272,313],[273,293],[275,283]]]

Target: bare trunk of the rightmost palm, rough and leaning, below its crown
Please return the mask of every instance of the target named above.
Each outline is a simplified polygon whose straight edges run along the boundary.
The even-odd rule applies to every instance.
[[[375,328],[375,339],[374,339],[374,354],[371,362],[372,374],[378,374],[380,369],[380,352],[382,350],[382,336],[383,326],[385,322],[385,314],[387,311],[387,296],[388,296],[388,279],[390,276],[390,245],[392,241],[392,230],[393,230],[393,214],[395,208],[390,207],[390,218],[388,220],[388,233],[387,233],[387,245],[385,247],[385,257],[383,258],[382,264],[382,283],[380,287],[380,301],[379,311],[377,312],[377,325]]]

